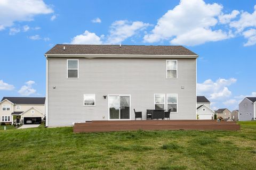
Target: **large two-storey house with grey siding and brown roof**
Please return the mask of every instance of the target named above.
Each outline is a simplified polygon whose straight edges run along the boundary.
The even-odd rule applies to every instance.
[[[135,120],[171,109],[196,120],[197,54],[183,46],[56,45],[46,57],[46,126]]]

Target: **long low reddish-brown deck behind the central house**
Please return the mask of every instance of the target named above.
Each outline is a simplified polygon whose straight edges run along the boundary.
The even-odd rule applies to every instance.
[[[240,130],[236,122],[214,120],[92,121],[75,123],[73,132],[114,132],[135,130]]]

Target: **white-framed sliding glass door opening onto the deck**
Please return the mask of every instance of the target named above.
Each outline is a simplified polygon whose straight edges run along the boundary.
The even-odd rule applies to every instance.
[[[109,95],[109,119],[130,119],[130,95]]]

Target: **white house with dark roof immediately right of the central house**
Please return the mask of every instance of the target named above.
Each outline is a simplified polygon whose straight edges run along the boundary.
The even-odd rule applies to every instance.
[[[212,120],[214,111],[210,108],[210,101],[205,96],[196,97],[197,115],[199,120]]]

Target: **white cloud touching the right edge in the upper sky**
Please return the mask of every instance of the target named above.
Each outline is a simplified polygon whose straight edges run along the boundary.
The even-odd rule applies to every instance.
[[[232,28],[236,28],[238,32],[243,31],[247,27],[256,27],[256,5],[252,14],[243,11],[239,20],[232,21],[229,25]]]

